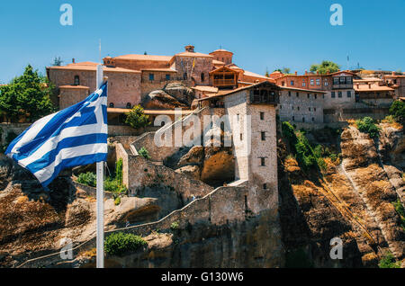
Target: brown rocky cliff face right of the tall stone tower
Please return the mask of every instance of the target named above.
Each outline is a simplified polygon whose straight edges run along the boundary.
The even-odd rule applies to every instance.
[[[327,159],[321,173],[303,172],[293,157],[287,157],[287,145],[282,140],[278,144],[280,218],[287,266],[296,265],[298,260],[317,267],[377,267],[387,251],[403,259],[405,237],[392,206],[401,197],[403,173],[390,163],[392,148],[377,148],[378,142],[354,127],[344,130],[340,139],[333,134],[325,138],[327,130],[318,133],[323,135],[309,134],[307,138],[314,145],[325,146],[327,142],[329,147],[337,146],[343,164]],[[399,130],[394,133],[401,134]],[[385,146],[391,142],[384,137],[381,140]],[[385,150],[385,156],[380,150]],[[343,241],[341,261],[329,258],[333,237]]]

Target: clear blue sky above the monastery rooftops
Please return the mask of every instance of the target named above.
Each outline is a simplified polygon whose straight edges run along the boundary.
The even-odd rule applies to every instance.
[[[59,23],[59,6],[73,6],[73,26]],[[343,6],[343,26],[329,7]],[[234,62],[264,74],[266,67],[302,73],[322,59],[347,66],[405,71],[403,0],[36,0],[2,1],[0,83],[30,63],[44,72],[65,64],[129,53],[174,55],[184,45],[234,52]]]

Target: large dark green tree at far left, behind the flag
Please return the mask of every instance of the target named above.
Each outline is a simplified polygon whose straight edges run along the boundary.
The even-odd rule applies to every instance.
[[[53,90],[48,79],[28,65],[23,76],[0,86],[0,112],[9,121],[19,121],[21,117],[35,121],[55,111],[50,101]]]

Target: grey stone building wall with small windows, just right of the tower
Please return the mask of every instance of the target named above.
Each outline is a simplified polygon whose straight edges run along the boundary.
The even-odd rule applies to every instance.
[[[277,110],[281,121],[321,123],[323,122],[323,103],[323,94],[316,94],[315,98],[315,93],[284,89],[281,92]]]

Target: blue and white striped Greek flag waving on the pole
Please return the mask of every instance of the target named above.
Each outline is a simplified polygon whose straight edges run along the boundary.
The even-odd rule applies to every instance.
[[[107,83],[83,102],[34,122],[5,154],[49,185],[60,171],[107,159]]]

